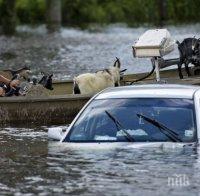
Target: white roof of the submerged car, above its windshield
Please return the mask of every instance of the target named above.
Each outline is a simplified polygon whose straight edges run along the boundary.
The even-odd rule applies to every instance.
[[[95,99],[112,98],[187,98],[192,99],[200,89],[195,85],[180,84],[145,84],[107,88],[100,92]]]

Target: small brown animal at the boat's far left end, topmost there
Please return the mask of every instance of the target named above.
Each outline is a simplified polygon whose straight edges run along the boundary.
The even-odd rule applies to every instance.
[[[29,75],[31,73],[31,70],[29,67],[24,66],[17,70],[5,69],[5,70],[3,70],[3,72],[9,74],[10,78],[13,78],[16,75],[18,75],[18,79],[23,79],[23,80],[29,81]]]

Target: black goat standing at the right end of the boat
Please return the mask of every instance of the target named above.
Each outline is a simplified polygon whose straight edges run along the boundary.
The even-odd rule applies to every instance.
[[[186,38],[181,43],[177,41],[180,62],[178,63],[179,77],[182,79],[183,74],[181,67],[185,65],[185,71],[188,76],[191,76],[189,64],[193,64],[195,68],[200,67],[200,39]]]

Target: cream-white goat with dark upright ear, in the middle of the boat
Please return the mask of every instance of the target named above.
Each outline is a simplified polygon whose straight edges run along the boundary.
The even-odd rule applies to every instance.
[[[120,79],[126,69],[121,70],[120,59],[116,57],[116,61],[112,67],[99,70],[95,73],[85,73],[74,78],[73,93],[74,94],[94,94],[100,92],[107,87],[120,86]]]

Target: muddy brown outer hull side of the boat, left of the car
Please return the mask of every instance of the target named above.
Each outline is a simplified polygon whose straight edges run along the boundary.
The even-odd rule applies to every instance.
[[[91,96],[62,95],[44,98],[0,99],[1,126],[69,124]]]

